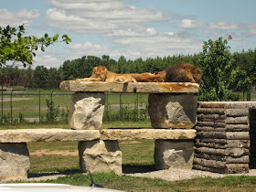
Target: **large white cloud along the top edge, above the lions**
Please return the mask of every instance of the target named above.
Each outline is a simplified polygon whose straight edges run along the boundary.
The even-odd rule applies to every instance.
[[[154,7],[139,8],[119,0],[67,1],[54,0],[55,6],[46,12],[50,26],[78,33],[108,33],[114,30],[137,30],[147,22],[162,21],[166,17]]]

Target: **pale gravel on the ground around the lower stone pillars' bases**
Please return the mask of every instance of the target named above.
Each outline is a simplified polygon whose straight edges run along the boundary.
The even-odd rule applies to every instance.
[[[32,174],[29,175],[27,181],[44,181],[48,179],[57,179],[59,176],[68,176],[67,174],[59,174],[59,173],[48,173],[48,174]],[[199,170],[187,170],[187,169],[166,169],[161,171],[153,171],[147,173],[135,173],[135,174],[123,174],[126,176],[139,176],[139,177],[151,177],[151,178],[160,178],[167,181],[177,181],[183,179],[191,179],[196,177],[223,177],[223,176],[256,176],[256,169],[251,169],[248,174],[216,174],[207,171],[199,171]]]

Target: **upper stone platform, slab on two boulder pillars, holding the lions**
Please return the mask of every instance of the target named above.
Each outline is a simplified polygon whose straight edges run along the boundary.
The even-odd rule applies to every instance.
[[[191,129],[197,123],[197,83],[64,80],[59,88],[75,92],[69,108],[72,129],[101,129],[105,92],[149,93],[148,113],[154,128]]]

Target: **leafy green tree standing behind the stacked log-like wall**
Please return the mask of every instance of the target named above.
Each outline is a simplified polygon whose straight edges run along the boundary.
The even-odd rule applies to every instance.
[[[204,72],[201,83],[200,101],[236,100],[231,88],[244,71],[235,65],[233,55],[229,52],[228,41],[231,39],[211,39],[204,42],[203,52],[199,54],[198,62]],[[239,84],[243,80],[240,80]]]

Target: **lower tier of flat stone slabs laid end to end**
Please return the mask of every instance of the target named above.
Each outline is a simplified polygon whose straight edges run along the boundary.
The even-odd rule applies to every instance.
[[[13,129],[0,130],[0,143],[58,142],[58,141],[92,141],[101,140],[189,140],[194,139],[194,129],[153,129],[124,128],[99,130],[69,129]]]

